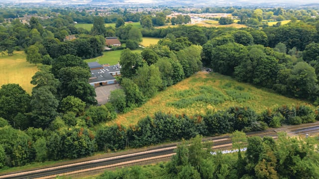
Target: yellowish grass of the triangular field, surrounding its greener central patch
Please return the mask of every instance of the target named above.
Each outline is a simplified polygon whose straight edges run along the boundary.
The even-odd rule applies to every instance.
[[[209,86],[211,88],[217,89],[222,93],[226,94],[226,90],[223,86],[227,83],[232,85],[232,88],[240,86],[243,87],[243,92],[248,92],[250,96],[253,96],[254,99],[249,99],[245,102],[238,103],[236,101],[226,100],[225,102],[218,105],[205,105],[205,104],[194,104],[187,108],[175,108],[173,106],[166,105],[169,102],[177,101],[179,98],[174,96],[178,91],[183,91],[185,89],[195,89],[199,90],[201,86]],[[107,125],[114,125],[117,123],[123,124],[125,126],[130,126],[136,124],[141,118],[146,116],[153,116],[155,112],[162,111],[165,113],[171,114],[203,114],[207,110],[224,110],[230,106],[249,106],[254,109],[256,112],[260,113],[267,108],[274,108],[281,106],[283,104],[292,105],[292,104],[304,104],[305,101],[288,98],[273,92],[268,91],[267,89],[258,89],[249,84],[239,83],[233,80],[230,77],[220,75],[218,73],[207,73],[207,72],[198,72],[188,79],[183,80],[182,82],[177,83],[176,85],[167,88],[164,91],[161,91],[158,95],[151,98],[144,105],[139,108],[136,108],[128,113],[119,114],[118,118],[109,121]]]

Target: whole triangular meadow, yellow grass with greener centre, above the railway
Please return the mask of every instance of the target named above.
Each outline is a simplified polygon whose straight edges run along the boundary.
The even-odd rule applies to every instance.
[[[119,114],[107,125],[136,124],[147,115],[157,111],[171,114],[203,114],[207,110],[223,110],[230,106],[249,106],[260,113],[267,108],[283,104],[305,104],[305,101],[288,98],[267,89],[258,89],[239,83],[218,73],[198,72],[188,79],[167,88],[139,108]]]

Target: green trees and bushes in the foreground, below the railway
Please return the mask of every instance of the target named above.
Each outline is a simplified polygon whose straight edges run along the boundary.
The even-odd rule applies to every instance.
[[[236,140],[239,139],[239,140]],[[247,150],[234,154],[215,152],[212,143],[202,143],[196,136],[183,141],[167,163],[133,166],[105,171],[98,179],[281,179],[318,178],[318,141],[297,139],[287,134],[272,137],[232,135],[233,144],[247,143]],[[238,146],[240,146],[238,145]],[[233,147],[233,149],[238,149]]]

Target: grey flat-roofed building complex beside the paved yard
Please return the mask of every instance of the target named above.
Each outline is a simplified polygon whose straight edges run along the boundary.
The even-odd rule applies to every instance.
[[[101,65],[98,62],[89,62],[88,65],[91,71],[91,78],[89,78],[91,86],[100,87],[117,84],[114,77],[121,75],[119,64],[110,66],[109,64]]]

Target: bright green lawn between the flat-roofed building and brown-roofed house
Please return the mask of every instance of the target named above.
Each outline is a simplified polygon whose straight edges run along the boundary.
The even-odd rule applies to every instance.
[[[93,59],[84,60],[85,62],[99,62],[100,64],[115,65],[120,61],[120,56],[123,50],[106,51],[103,52],[103,56]],[[141,53],[142,50],[132,50],[133,53]]]

